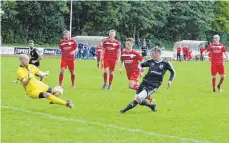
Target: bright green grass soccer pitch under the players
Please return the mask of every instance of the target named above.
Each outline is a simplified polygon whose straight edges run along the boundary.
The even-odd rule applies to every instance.
[[[115,73],[111,91],[101,90],[102,72],[95,61],[77,61],[76,88],[68,71],[64,77],[62,98],[75,105],[69,109],[29,98],[20,84],[12,83],[17,58],[1,58],[2,143],[228,143],[229,78],[222,93],[212,93],[209,62],[173,64],[172,88],[166,89],[167,72],[153,95],[158,112],[138,105],[119,115],[134,98],[124,72]],[[40,69],[50,71],[45,83],[58,84],[59,59],[44,59]]]

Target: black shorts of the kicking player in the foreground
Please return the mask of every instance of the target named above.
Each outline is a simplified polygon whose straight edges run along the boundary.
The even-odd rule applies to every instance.
[[[152,95],[157,89],[159,88],[159,86],[157,86],[156,84],[149,84],[147,82],[142,82],[136,92],[136,94],[139,94],[140,92],[142,92],[143,90],[146,90],[147,92],[147,97],[149,97],[150,95]]]

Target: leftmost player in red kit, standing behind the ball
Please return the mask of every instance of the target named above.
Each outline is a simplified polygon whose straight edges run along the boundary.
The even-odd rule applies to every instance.
[[[60,64],[60,75],[59,75],[59,85],[62,86],[62,81],[64,78],[64,71],[66,68],[69,69],[71,73],[72,87],[75,87],[75,52],[77,49],[77,43],[75,40],[70,38],[69,31],[65,30],[63,32],[64,40],[59,43],[61,51],[61,64]]]

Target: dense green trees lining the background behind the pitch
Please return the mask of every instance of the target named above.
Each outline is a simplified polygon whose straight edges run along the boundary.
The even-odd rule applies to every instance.
[[[69,29],[69,1],[1,1],[3,43],[58,43]],[[229,1],[73,1],[72,35],[151,40],[162,45],[178,40],[229,41]]]

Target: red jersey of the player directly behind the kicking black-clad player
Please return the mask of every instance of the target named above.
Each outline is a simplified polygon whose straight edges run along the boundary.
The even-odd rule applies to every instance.
[[[138,53],[135,50],[132,50],[130,52],[123,50],[121,53],[121,61],[123,61],[125,64],[127,74],[135,72],[135,71],[139,71],[138,64],[139,64],[139,61],[142,61],[142,60],[143,58],[140,55],[140,53]]]

